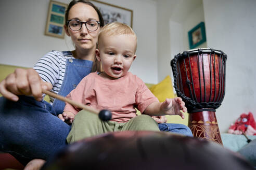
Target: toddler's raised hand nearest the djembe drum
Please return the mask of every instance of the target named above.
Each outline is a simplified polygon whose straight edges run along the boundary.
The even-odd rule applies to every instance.
[[[181,97],[175,97],[175,98],[167,98],[162,104],[161,104],[161,111],[164,112],[167,115],[180,115],[182,119],[185,118],[183,112],[187,111],[187,108],[185,107],[185,103],[182,101]]]

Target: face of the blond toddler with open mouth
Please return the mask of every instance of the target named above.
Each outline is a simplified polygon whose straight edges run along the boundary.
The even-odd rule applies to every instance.
[[[118,79],[129,71],[136,58],[136,37],[132,34],[104,35],[96,51],[104,73],[109,79]]]

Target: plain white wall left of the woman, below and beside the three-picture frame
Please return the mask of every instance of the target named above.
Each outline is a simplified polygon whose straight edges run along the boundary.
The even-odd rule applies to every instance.
[[[46,52],[67,50],[64,39],[44,35],[47,10],[48,1],[0,1],[1,64],[33,67]]]

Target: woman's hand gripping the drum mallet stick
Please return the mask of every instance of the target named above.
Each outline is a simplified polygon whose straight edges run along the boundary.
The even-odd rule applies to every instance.
[[[33,68],[17,68],[0,82],[0,93],[11,101],[18,101],[17,95],[32,95],[35,100],[42,100],[42,88],[52,89],[52,84],[43,82]]]

